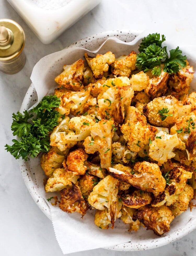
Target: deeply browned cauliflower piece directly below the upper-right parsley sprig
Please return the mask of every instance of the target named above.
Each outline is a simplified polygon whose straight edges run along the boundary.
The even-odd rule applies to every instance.
[[[151,100],[163,96],[168,89],[168,79],[169,74],[162,70],[160,76],[154,76],[149,79],[149,83],[144,89],[144,92],[149,96]]]

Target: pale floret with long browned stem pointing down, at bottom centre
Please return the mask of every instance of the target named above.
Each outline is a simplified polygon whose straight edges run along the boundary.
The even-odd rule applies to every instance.
[[[103,178],[96,186],[88,197],[88,202],[97,210],[105,210],[107,208],[107,216],[114,227],[114,222],[118,216],[118,184],[119,181],[112,176],[108,175]]]

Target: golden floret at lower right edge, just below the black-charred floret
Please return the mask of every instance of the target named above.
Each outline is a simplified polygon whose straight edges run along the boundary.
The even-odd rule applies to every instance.
[[[193,199],[193,196],[193,188],[190,185],[186,184],[184,190],[180,194],[178,194],[177,201],[170,206],[170,210],[175,217],[188,209],[189,202]]]

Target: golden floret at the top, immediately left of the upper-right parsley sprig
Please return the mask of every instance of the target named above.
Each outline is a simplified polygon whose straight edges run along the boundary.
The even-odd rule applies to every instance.
[[[131,71],[136,70],[136,58],[137,54],[135,51],[131,51],[128,56],[123,55],[117,58],[112,64],[113,75],[130,77]]]

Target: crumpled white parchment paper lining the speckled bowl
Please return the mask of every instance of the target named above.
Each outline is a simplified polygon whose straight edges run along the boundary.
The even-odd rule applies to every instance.
[[[117,38],[108,38],[93,52],[80,47],[70,47],[42,58],[34,66],[31,75],[32,83],[38,95],[38,102],[41,101],[43,96],[54,93],[54,88],[57,87],[54,77],[62,72],[64,64],[70,65],[79,58],[83,58],[85,52],[90,56],[95,56],[94,53],[104,54],[106,51],[112,51],[116,58],[122,54],[129,54],[132,50],[137,52],[141,38],[149,33],[157,32],[164,34],[166,36],[166,42],[164,43],[168,45],[168,49],[175,49],[179,46],[183,50],[183,54],[187,55],[194,70],[196,70],[196,33],[193,26],[191,28],[188,23],[182,21],[176,24],[153,24],[149,27],[150,29],[129,43],[124,43]],[[196,89],[195,77],[194,81],[192,81],[192,87]],[[39,165],[39,158],[31,160],[31,168],[36,170],[35,175],[37,184],[39,184],[40,196],[46,199],[54,196],[54,193],[45,193],[43,186],[44,174]],[[172,234],[176,232],[180,233],[178,229],[186,228],[190,218],[195,219],[196,217],[195,207],[192,212],[188,209],[172,222],[169,233],[164,234],[162,237],[157,237],[152,231],[146,231],[143,227],[138,232],[132,231],[130,233],[127,231],[129,224],[124,224],[119,220],[116,221],[114,229],[109,228],[108,230],[103,230],[94,224],[94,210],[88,210],[83,219],[81,219],[79,213],[68,214],[61,211],[59,207],[52,206],[51,203],[48,203],[48,205],[51,211],[56,239],[64,254],[111,247],[130,241],[131,244],[135,244],[135,247],[140,242],[145,242],[148,245],[153,240],[163,241],[163,244],[166,244],[172,242],[170,239]],[[192,220],[192,224],[196,225],[196,221],[193,222]]]

